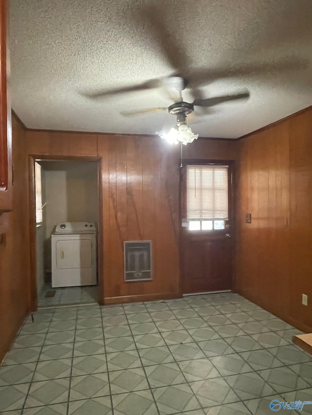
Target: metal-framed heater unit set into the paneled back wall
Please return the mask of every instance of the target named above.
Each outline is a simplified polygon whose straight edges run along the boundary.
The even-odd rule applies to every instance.
[[[152,279],[152,241],[123,243],[125,281]]]

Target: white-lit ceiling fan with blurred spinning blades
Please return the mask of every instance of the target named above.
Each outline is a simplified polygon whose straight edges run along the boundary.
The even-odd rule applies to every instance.
[[[150,29],[153,40],[156,41],[156,44],[158,45],[157,49],[160,48],[169,65],[174,68],[174,72],[169,76],[150,79],[138,85],[130,85],[113,90],[95,91],[84,95],[91,98],[100,98],[133,91],[152,90],[160,87],[165,87],[167,92],[177,90],[178,96],[170,96],[171,100],[175,102],[168,108],[145,108],[141,110],[123,111],[121,114],[124,116],[133,116],[154,111],[168,110],[170,114],[176,115],[177,130],[181,128],[186,130],[187,116],[194,111],[195,107],[209,108],[227,101],[248,99],[250,96],[248,90],[243,90],[233,95],[204,98],[199,87],[207,85],[216,79],[253,75],[263,72],[288,71],[308,65],[307,62],[303,62],[298,58],[286,58],[279,59],[277,62],[194,70],[191,68],[185,49],[181,46],[183,36],[172,34],[165,24],[166,16],[168,16],[167,7],[166,2],[159,4],[158,1],[157,6],[153,3],[145,3],[141,5],[140,9],[135,13],[132,12],[129,15],[131,15],[131,18],[135,21],[139,30],[144,27]],[[182,98],[182,91],[186,88],[191,92],[191,95],[194,98],[191,103],[185,102]],[[193,133],[192,137],[195,137]],[[179,139],[177,140],[181,141]]]

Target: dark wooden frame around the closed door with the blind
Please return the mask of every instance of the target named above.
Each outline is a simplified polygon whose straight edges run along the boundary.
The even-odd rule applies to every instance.
[[[183,159],[182,165],[180,166],[179,172],[179,264],[180,264],[180,278],[179,278],[179,290],[181,295],[183,295],[183,275],[182,275],[182,255],[183,255],[183,243],[182,243],[182,218],[183,213],[185,212],[185,195],[183,186],[185,183],[183,182],[183,169],[187,164],[194,164],[194,165],[228,165],[229,166],[229,183],[231,183],[231,192],[229,193],[229,204],[231,206],[231,219],[232,219],[232,226],[233,226],[233,234],[234,234],[234,253],[233,253],[233,276],[232,276],[232,291],[237,292],[236,289],[236,164],[235,160],[215,160],[215,159]],[[229,215],[229,216],[230,216]],[[196,294],[194,294],[196,295]]]

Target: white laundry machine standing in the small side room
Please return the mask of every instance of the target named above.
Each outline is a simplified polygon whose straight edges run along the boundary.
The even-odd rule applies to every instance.
[[[52,287],[97,285],[97,231],[94,223],[58,223],[51,235]]]

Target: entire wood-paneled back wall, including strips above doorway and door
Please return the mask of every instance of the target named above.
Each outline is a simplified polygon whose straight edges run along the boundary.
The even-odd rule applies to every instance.
[[[157,137],[26,132],[27,155],[101,158],[103,290],[106,304],[180,296],[180,148]],[[183,157],[236,159],[237,144],[198,140]],[[153,281],[124,282],[123,242],[152,240]]]

